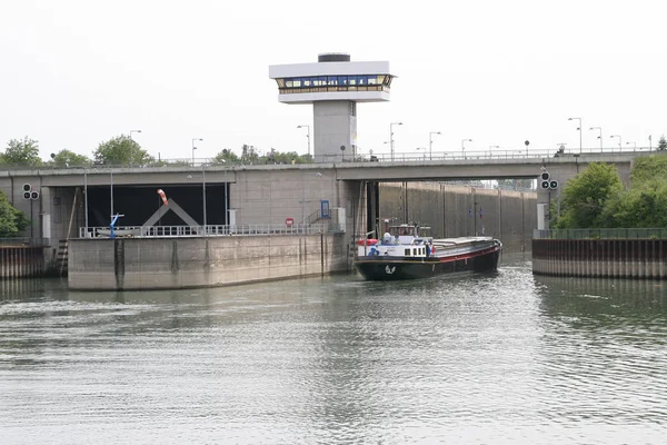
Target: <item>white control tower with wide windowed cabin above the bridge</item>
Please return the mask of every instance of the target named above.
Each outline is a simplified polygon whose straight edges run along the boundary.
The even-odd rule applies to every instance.
[[[357,102],[388,101],[395,76],[387,61],[352,62],[336,52],[319,55],[317,63],[270,66],[269,77],[280,102],[312,103],[313,159],[332,162],[357,155]]]

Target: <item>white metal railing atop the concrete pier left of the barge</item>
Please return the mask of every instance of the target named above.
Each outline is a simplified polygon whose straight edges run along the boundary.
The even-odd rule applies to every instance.
[[[120,226],[113,229],[116,238],[163,238],[238,235],[313,235],[327,231],[325,224],[237,224],[236,226]],[[109,227],[81,227],[80,238],[109,238]]]

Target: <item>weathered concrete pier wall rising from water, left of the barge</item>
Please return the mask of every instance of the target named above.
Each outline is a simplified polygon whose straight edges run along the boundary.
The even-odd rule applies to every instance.
[[[212,287],[348,269],[342,234],[72,239],[70,289]]]

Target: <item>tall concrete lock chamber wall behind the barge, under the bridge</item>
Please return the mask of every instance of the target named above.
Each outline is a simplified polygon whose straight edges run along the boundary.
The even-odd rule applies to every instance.
[[[536,199],[536,192],[387,182],[380,186],[380,219],[421,222],[435,238],[492,236],[506,250],[525,251],[537,225]]]

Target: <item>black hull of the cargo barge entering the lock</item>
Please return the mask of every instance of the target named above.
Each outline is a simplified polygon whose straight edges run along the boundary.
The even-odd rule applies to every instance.
[[[436,275],[496,270],[500,248],[444,258],[359,257],[355,268],[368,280],[394,281],[429,278]]]

